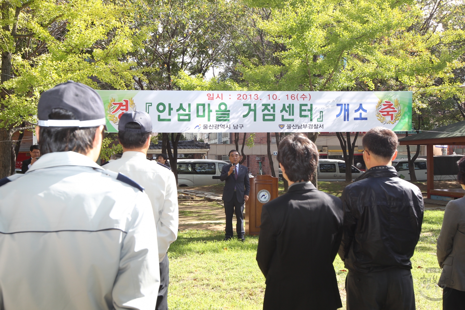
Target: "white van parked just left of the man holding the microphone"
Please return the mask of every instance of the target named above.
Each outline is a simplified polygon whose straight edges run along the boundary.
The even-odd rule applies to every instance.
[[[223,160],[178,159],[178,186],[203,186],[225,183],[219,180],[224,165],[228,165],[228,163]]]

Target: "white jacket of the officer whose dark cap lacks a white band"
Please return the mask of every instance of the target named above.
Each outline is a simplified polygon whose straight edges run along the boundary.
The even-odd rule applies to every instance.
[[[178,190],[173,172],[148,160],[142,152],[126,151],[103,168],[121,172],[144,186],[157,224],[159,261],[178,237]]]

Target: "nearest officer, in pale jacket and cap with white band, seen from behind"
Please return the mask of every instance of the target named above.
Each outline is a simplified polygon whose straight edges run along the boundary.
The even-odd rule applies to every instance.
[[[143,187],[95,163],[100,96],[68,81],[42,93],[38,118],[42,156],[0,180],[0,308],[153,310],[153,211]]]

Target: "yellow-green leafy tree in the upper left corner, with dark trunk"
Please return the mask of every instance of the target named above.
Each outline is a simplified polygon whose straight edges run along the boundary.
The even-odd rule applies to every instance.
[[[0,0],[0,8],[3,178],[14,171],[12,135],[36,123],[40,93],[66,80],[94,88],[99,88],[95,81],[113,89],[132,88],[138,72],[126,54],[146,33],[129,26],[133,11],[127,2]]]

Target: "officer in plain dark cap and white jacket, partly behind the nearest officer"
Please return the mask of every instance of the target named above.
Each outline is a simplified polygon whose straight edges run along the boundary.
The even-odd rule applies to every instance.
[[[104,168],[121,172],[144,186],[152,202],[157,224],[160,288],[156,310],[167,310],[169,262],[166,252],[178,236],[178,191],[173,172],[156,161],[147,159],[152,136],[152,120],[146,112],[124,113],[118,124],[118,139],[123,156]]]

